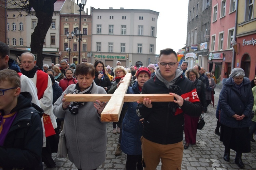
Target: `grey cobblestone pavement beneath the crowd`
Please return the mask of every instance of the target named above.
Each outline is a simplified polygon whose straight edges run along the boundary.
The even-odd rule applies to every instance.
[[[240,169],[235,163],[236,152],[231,150],[230,162],[223,160],[224,145],[219,141],[219,136],[214,134],[217,119],[215,117],[216,105],[220,89],[215,89],[215,107],[208,106],[207,113],[204,114],[205,126],[202,130],[197,131],[197,142],[183,151],[182,169],[184,170],[238,170]],[[112,133],[112,123],[108,123],[108,143],[106,150],[105,162],[97,170],[125,170],[126,155],[122,153],[115,156],[115,150],[118,142],[118,134]],[[254,139],[256,136],[254,135]],[[185,137],[184,137],[185,140]],[[185,144],[185,141],[183,143]],[[75,165],[68,158],[57,158],[56,153],[52,154],[56,162],[55,168],[46,168],[46,170],[77,170]],[[256,169],[256,142],[251,143],[251,152],[243,153],[244,169]],[[157,170],[161,169],[161,163]]]

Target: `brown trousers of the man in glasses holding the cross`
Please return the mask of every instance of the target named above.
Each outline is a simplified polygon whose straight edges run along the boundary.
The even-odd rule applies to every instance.
[[[144,170],[156,170],[160,159],[162,162],[161,170],[181,170],[183,157],[183,142],[174,144],[159,144],[151,142],[143,136],[142,142],[142,159],[146,167]]]

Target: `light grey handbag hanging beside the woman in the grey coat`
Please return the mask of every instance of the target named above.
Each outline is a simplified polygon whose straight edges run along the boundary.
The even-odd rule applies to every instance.
[[[66,146],[65,121],[64,121],[62,131],[59,134],[59,144],[58,144],[57,157],[66,158],[67,155],[68,155],[68,149],[67,149],[67,146]]]

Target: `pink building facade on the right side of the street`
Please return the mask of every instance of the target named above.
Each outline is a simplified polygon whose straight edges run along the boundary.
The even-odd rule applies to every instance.
[[[212,18],[210,33],[209,68],[215,71],[217,84],[231,73],[234,37],[236,0],[212,1]]]

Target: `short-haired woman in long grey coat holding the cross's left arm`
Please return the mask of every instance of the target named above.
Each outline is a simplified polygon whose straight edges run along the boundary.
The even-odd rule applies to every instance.
[[[95,68],[91,63],[81,63],[75,71],[78,82],[71,84],[55,102],[53,113],[65,117],[65,136],[69,159],[78,169],[96,170],[106,157],[106,124],[100,114],[106,103],[66,102],[66,94],[105,94],[95,84]]]

